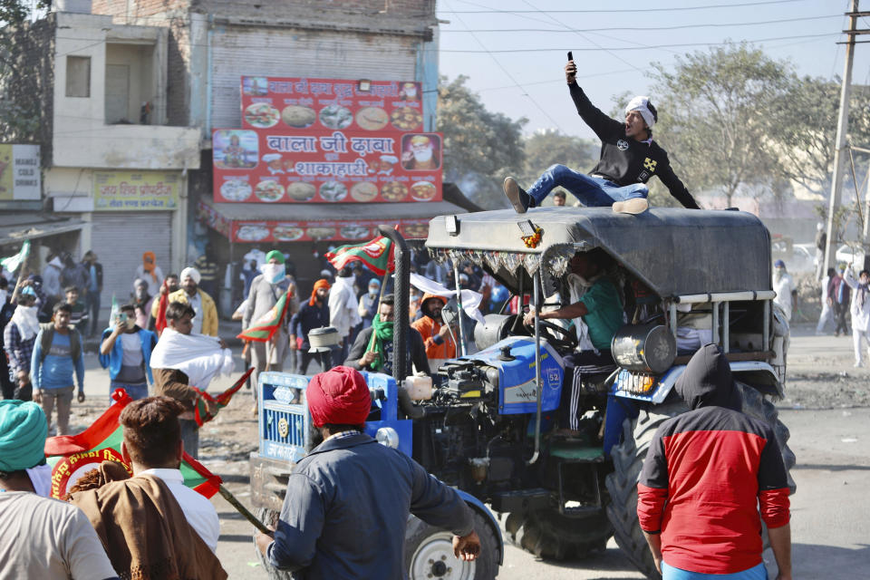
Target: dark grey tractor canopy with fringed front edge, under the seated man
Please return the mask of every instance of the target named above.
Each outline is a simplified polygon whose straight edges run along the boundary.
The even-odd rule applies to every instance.
[[[432,218],[426,247],[436,260],[483,266],[514,292],[529,291],[539,268],[545,289],[556,288],[571,256],[594,247],[662,298],[771,289],[770,234],[742,211],[499,209]]]

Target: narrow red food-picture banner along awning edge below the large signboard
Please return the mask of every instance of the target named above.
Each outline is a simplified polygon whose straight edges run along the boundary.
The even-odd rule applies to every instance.
[[[383,220],[234,221],[231,239],[234,242],[356,242],[376,237],[377,227],[382,223]],[[404,237],[426,237],[429,233],[428,219],[400,219],[390,223],[398,225]]]

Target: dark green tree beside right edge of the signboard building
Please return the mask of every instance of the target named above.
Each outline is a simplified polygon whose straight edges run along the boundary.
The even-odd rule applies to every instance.
[[[501,183],[522,169],[525,118],[512,121],[488,111],[480,97],[459,75],[438,89],[438,130],[444,135],[444,177],[458,183],[473,201],[485,208],[505,206]]]

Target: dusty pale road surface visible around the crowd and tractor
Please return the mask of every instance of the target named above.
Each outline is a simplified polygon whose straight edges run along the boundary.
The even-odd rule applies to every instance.
[[[815,336],[808,325],[793,329],[788,354],[787,396],[778,403],[781,419],[791,430],[790,445],[798,465],[792,475],[796,578],[846,580],[862,574],[870,561],[870,370],[853,368],[852,339]],[[83,428],[102,411],[108,377],[87,358],[89,401],[73,406],[73,427]],[[219,391],[230,381],[215,382]],[[209,423],[200,438],[200,459],[249,504],[248,453],[256,449],[256,417],[250,391],[240,391],[230,406]],[[251,542],[251,527],[227,502],[213,498],[221,521],[218,556],[230,578],[265,579]],[[772,556],[768,568],[773,577]],[[551,563],[507,546],[501,580],[544,579],[627,580],[643,578],[614,542],[600,556],[577,562]]]

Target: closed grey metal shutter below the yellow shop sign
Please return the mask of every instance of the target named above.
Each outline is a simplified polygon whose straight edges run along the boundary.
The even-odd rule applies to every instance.
[[[102,264],[100,320],[108,321],[112,295],[119,304],[130,300],[143,252],[154,252],[163,275],[170,273],[172,212],[95,212],[92,216],[91,247]]]

